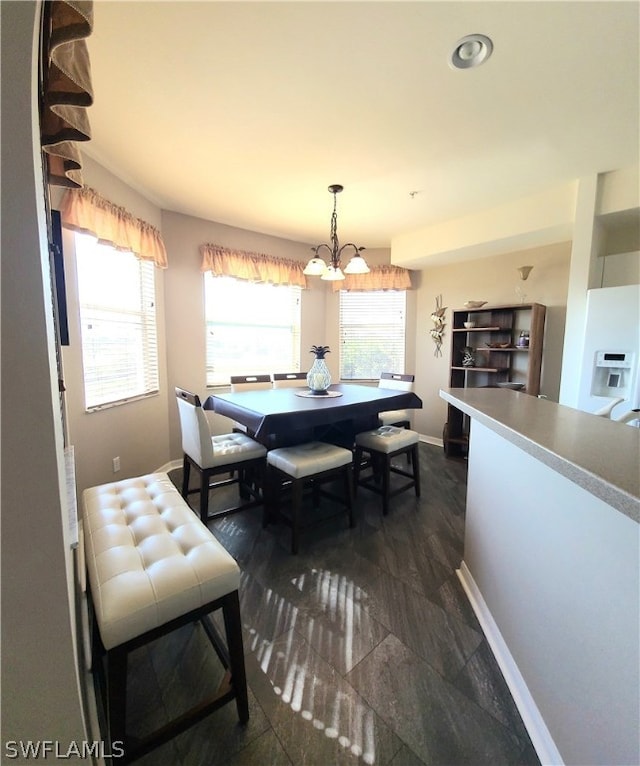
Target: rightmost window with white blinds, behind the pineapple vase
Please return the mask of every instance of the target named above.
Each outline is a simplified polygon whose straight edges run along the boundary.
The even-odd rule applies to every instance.
[[[406,292],[340,291],[340,378],[375,380],[404,370]]]

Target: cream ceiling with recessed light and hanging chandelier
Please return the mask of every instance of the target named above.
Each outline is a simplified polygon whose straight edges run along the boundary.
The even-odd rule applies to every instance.
[[[164,209],[312,244],[340,183],[340,240],[388,247],[636,164],[639,7],[95,0],[86,151]],[[470,33],[493,56],[454,70]]]

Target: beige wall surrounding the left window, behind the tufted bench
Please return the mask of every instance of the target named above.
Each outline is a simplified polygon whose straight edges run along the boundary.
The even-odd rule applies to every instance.
[[[91,158],[83,168],[87,186],[126,208],[131,214],[160,227],[160,210]],[[167,414],[167,340],[164,320],[164,282],[167,272],[156,269],[156,306],[160,393],[139,401],[97,412],[86,412],[82,373],[80,315],[78,310],[74,235],[63,230],[63,250],[69,345],[63,347],[67,421],[70,443],[76,457],[76,484],[81,493],[86,487],[150,473],[169,460]],[[113,472],[113,458],[120,458],[121,470]]]

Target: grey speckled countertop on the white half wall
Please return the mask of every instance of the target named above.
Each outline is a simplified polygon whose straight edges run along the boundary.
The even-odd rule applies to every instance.
[[[447,402],[640,522],[640,429],[498,388],[448,388]]]

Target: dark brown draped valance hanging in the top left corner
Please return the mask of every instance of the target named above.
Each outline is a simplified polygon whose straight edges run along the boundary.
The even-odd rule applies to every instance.
[[[40,142],[47,180],[54,186],[82,186],[78,141],[91,139],[87,107],[93,103],[86,37],[93,29],[91,0],[42,3]]]

